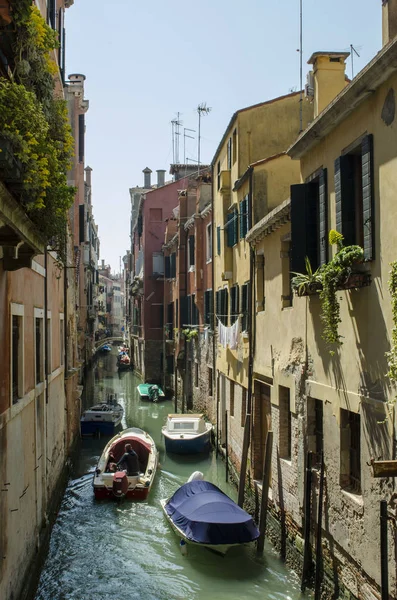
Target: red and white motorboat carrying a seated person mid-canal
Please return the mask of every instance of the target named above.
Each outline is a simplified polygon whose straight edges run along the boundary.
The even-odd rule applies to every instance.
[[[127,443],[138,454],[139,475],[127,475],[125,471],[115,470]],[[156,444],[147,432],[138,427],[124,429],[106,444],[99,459],[93,482],[95,498],[145,500],[156,474],[158,456]]]

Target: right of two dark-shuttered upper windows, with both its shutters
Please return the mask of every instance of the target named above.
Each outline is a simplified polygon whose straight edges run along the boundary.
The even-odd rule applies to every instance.
[[[336,229],[344,244],[364,248],[366,260],[374,258],[373,137],[335,160]]]

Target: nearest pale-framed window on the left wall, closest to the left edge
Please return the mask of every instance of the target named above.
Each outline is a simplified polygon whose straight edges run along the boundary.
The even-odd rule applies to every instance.
[[[22,304],[11,304],[11,401],[16,404],[24,395],[24,340]]]

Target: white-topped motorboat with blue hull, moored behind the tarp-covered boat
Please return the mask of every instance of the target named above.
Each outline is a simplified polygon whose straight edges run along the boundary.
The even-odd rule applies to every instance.
[[[167,452],[197,454],[211,449],[212,429],[201,414],[171,414],[161,432]]]

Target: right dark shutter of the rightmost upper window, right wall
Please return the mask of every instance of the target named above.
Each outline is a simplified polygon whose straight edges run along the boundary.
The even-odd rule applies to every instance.
[[[375,258],[374,236],[374,166],[373,136],[366,135],[361,142],[362,190],[363,190],[363,245],[365,260]]]

